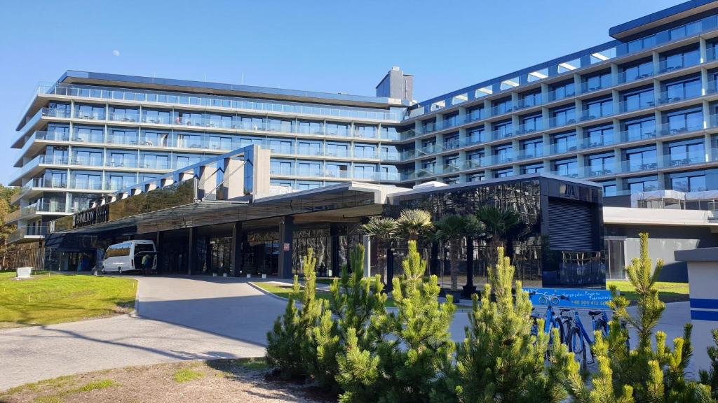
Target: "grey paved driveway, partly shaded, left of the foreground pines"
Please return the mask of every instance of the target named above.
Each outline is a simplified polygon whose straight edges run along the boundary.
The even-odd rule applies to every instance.
[[[138,278],[139,316],[0,331],[0,390],[56,376],[264,355],[284,303],[241,280]]]

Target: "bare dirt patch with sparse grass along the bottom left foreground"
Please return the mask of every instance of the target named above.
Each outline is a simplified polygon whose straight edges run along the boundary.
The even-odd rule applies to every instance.
[[[23,385],[0,392],[0,402],[335,402],[304,384],[268,381],[268,374],[264,361],[246,359],[129,366]]]

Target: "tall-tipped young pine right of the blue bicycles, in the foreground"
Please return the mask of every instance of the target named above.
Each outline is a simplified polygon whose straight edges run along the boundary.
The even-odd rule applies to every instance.
[[[666,305],[658,299],[656,280],[663,262],[658,260],[652,269],[648,257],[648,234],[640,235],[640,257],[634,257],[626,267],[628,280],[637,294],[636,315],[628,312],[628,299],[618,295],[611,286],[614,311],[606,338],[595,332],[593,355],[599,371],[592,377],[593,389],[588,390],[582,380],[569,379],[570,389],[577,402],[710,402],[710,389],[694,381],[686,381],[686,366],[692,354],[691,326],[686,325],[684,337],[673,339],[673,350],[666,346],[666,333],[654,332]],[[628,323],[638,333],[638,343],[631,350],[626,345]],[[655,338],[655,348],[652,339]],[[573,364],[578,366],[578,364]]]

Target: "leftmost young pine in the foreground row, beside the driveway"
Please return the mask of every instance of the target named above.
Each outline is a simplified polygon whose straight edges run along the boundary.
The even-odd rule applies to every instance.
[[[294,275],[294,285],[286,303],[284,316],[276,319],[274,327],[267,332],[266,359],[284,379],[307,376],[307,367],[314,366],[316,354],[309,341],[309,331],[316,326],[322,310],[317,300],[317,258],[312,248],[302,260],[304,289],[299,287],[299,276]],[[302,308],[295,301],[299,298]]]

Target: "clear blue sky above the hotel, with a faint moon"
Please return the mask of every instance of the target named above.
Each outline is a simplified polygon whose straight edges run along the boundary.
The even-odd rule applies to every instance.
[[[4,1],[0,183],[39,82],[65,70],[373,95],[391,66],[425,100],[610,40],[678,0]]]

